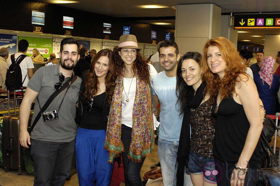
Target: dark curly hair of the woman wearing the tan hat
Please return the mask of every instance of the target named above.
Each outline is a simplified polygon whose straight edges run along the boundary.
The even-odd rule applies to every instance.
[[[136,74],[136,72],[137,72],[137,75],[141,80],[149,83],[150,67],[149,67],[148,63],[146,62],[146,60],[139,53],[139,50],[138,49],[136,49],[136,50],[137,50],[136,59],[132,63],[131,70],[133,71],[134,74]],[[121,51],[121,48],[119,48],[118,51],[114,53],[114,61],[115,61],[115,65],[116,65],[117,75],[123,75],[124,67],[125,67],[124,62],[121,59],[121,56],[119,55],[120,51]]]

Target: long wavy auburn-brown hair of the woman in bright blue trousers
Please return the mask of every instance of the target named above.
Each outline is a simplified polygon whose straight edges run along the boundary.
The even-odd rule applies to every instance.
[[[106,99],[109,104],[111,104],[112,97],[115,90],[115,80],[116,80],[116,69],[113,61],[113,52],[110,49],[103,49],[99,51],[94,57],[90,65],[89,72],[85,73],[85,92],[83,93],[84,99],[90,99],[95,96],[99,91],[99,81],[98,77],[94,71],[94,65],[101,56],[107,56],[109,58],[109,71],[105,77],[106,86]]]

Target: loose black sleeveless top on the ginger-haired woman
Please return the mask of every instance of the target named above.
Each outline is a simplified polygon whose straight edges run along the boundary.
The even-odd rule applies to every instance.
[[[212,114],[216,118],[213,154],[215,158],[235,164],[245,145],[250,123],[241,104],[234,99],[223,99],[215,114],[217,97],[213,103]],[[259,168],[262,165],[264,152],[261,151],[260,140],[249,160],[250,168]]]

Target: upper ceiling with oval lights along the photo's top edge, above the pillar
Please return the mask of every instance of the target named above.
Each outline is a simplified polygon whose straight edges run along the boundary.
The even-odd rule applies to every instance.
[[[41,2],[54,3],[49,0]],[[166,17],[175,16],[172,6],[183,4],[215,4],[222,13],[235,12],[278,12],[279,0],[75,0],[78,3],[61,6],[109,15],[113,17]],[[162,5],[166,8],[140,9],[143,5]]]

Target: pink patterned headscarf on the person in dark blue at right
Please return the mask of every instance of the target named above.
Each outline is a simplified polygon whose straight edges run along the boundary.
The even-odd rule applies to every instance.
[[[263,59],[263,63],[261,65],[261,70],[259,71],[259,75],[263,80],[263,85],[265,82],[269,85],[269,89],[271,88],[271,84],[273,81],[273,67],[275,65],[275,61],[273,57],[267,56]]]

